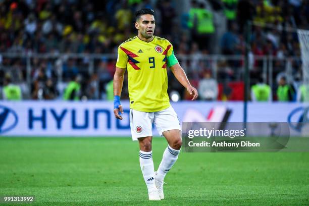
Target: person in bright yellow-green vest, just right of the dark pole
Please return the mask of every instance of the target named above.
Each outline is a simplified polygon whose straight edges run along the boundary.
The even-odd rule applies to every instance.
[[[252,101],[272,101],[272,89],[269,85],[263,82],[260,78],[259,82],[251,87],[251,100]]]

